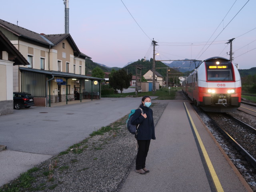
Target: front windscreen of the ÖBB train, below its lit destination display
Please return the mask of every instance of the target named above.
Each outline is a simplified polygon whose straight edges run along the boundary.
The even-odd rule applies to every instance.
[[[231,69],[207,70],[208,81],[232,81]]]

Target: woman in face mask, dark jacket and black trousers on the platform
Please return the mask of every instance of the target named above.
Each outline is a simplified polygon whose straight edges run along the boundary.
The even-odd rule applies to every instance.
[[[155,127],[153,120],[153,111],[150,109],[151,99],[149,96],[144,96],[140,104],[144,114],[140,109],[137,109],[132,118],[132,124],[138,125],[138,132],[136,139],[138,142],[138,153],[136,157],[136,172],[146,174],[149,170],[146,169],[146,157],[148,155],[149,145],[151,139],[156,139]]]

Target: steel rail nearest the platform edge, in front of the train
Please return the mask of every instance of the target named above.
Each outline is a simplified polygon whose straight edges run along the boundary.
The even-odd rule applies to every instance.
[[[208,118],[212,121],[212,123],[222,132],[222,134],[230,140],[232,145],[256,168],[256,159],[254,159],[253,156],[251,156],[250,153],[248,153],[232,136],[230,136],[224,129],[222,129],[217,122],[215,122],[208,114],[206,114]]]

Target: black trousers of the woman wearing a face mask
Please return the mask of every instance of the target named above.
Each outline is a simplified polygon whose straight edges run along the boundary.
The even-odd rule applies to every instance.
[[[138,140],[138,153],[136,157],[136,170],[145,168],[150,140]]]

